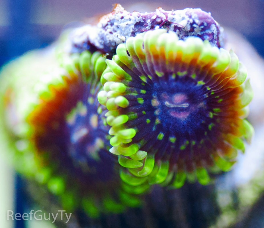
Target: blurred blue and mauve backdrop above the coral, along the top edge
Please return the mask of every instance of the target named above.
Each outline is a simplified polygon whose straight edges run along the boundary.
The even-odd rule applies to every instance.
[[[259,54],[264,55],[264,1],[64,1],[64,0],[1,0],[0,1],[0,64],[24,52],[43,48],[58,38],[65,27],[88,22],[120,3],[127,11],[154,11],[201,8],[211,12],[221,26],[243,34]],[[90,20],[89,22],[92,22]],[[94,21],[95,22],[95,21]]]

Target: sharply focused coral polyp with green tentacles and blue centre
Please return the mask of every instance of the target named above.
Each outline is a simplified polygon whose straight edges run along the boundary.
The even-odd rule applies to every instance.
[[[208,184],[207,170],[229,170],[245,150],[253,92],[232,50],[155,29],[128,38],[106,62],[98,99],[127,184]]]

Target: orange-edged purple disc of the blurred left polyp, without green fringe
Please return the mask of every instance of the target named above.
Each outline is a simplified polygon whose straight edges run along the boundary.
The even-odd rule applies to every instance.
[[[76,74],[63,77],[62,85],[50,85],[50,94],[40,96],[40,104],[27,118],[36,151],[41,156],[48,151],[50,160],[60,161],[60,169],[80,179],[81,184],[89,183],[82,188],[91,189],[114,180],[114,159],[106,150],[108,127],[96,98],[101,84],[88,71],[89,58],[94,56],[99,57],[95,59],[97,63],[104,63],[105,58],[99,53],[82,53],[79,61],[87,61],[87,66],[79,66],[79,72],[84,72],[87,79],[78,76],[76,69]]]

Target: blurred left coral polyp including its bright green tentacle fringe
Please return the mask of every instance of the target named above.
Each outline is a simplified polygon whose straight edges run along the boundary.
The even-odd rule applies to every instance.
[[[122,190],[117,159],[109,152],[107,110],[97,100],[106,58],[85,51],[64,56],[60,67],[54,52],[42,55],[28,54],[3,72],[18,79],[5,78],[4,95],[7,131],[19,150],[17,170],[56,196],[63,209],[82,209],[88,217],[138,206],[140,199]]]

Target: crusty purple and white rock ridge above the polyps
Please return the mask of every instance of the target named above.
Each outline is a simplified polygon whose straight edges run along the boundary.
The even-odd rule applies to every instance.
[[[101,17],[97,25],[85,25],[73,30],[69,35],[69,51],[101,50],[111,55],[118,44],[124,43],[130,36],[157,28],[172,30],[183,40],[188,36],[198,36],[202,40],[209,40],[213,46],[223,46],[223,28],[210,13],[201,9],[165,11],[159,7],[151,13],[130,13],[116,4],[113,11]]]

